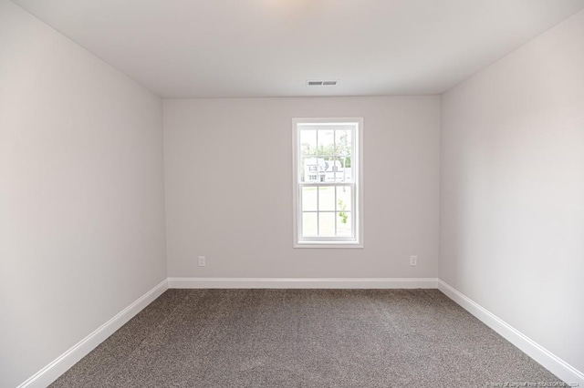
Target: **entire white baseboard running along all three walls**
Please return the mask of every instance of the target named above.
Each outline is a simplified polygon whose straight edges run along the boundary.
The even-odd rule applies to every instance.
[[[584,387],[584,373],[518,332],[491,311],[436,278],[168,278],[110,321],[61,354],[17,388],[47,387],[167,289],[435,289],[472,313],[507,341],[572,386]]]

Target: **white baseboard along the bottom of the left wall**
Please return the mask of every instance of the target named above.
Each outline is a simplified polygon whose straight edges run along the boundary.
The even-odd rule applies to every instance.
[[[57,380],[58,376],[67,372],[76,362],[85,357],[95,349],[99,343],[110,337],[111,334],[120,329],[124,323],[130,321],[138,312],[148,306],[158,298],[162,292],[168,289],[168,280],[161,281],[151,291],[146,292],[138,300],[130,304],[116,316],[105,322],[97,330],[89,334],[75,346],[58,356],[53,362],[31,376],[26,382],[18,385],[17,388],[44,388]]]

